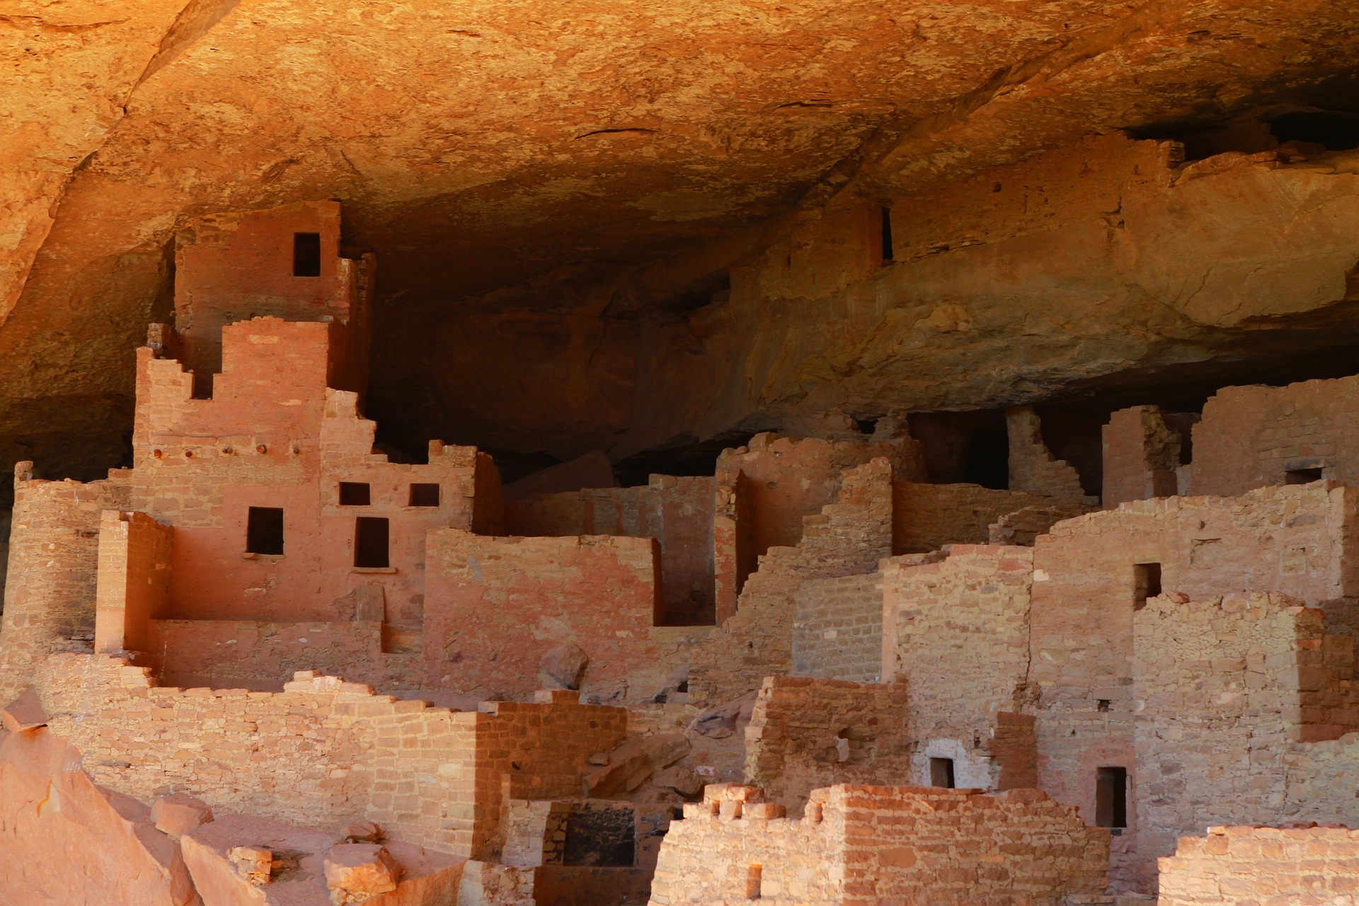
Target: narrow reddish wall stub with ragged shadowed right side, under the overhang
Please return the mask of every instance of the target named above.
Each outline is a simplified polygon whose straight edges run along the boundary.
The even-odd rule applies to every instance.
[[[1105,508],[1178,493],[1181,437],[1166,425],[1159,406],[1120,409],[1109,416],[1102,436]]]

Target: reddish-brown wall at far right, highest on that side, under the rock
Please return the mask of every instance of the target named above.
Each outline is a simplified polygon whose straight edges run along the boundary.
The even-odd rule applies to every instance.
[[[1287,387],[1226,387],[1193,432],[1189,492],[1241,494],[1290,469],[1359,484],[1359,376]]]

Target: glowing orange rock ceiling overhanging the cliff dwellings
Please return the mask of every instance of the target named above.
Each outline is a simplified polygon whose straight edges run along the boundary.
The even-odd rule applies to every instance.
[[[1344,0],[18,0],[0,48],[12,460],[122,431],[186,217],[340,198],[386,312],[569,307],[803,198],[1335,107],[1359,22]]]

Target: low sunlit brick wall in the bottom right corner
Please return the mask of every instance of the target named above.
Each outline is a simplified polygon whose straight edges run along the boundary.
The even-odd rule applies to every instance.
[[[1359,830],[1215,826],[1161,861],[1158,906],[1336,906],[1359,896]]]

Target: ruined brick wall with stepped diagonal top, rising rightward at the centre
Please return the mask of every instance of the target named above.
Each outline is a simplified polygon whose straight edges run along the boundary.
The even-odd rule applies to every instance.
[[[690,655],[689,695],[722,704],[792,667],[798,588],[811,579],[867,575],[892,550],[892,463],[847,469],[836,503],[803,519],[795,547],[771,547],[741,592],[739,607]]]

